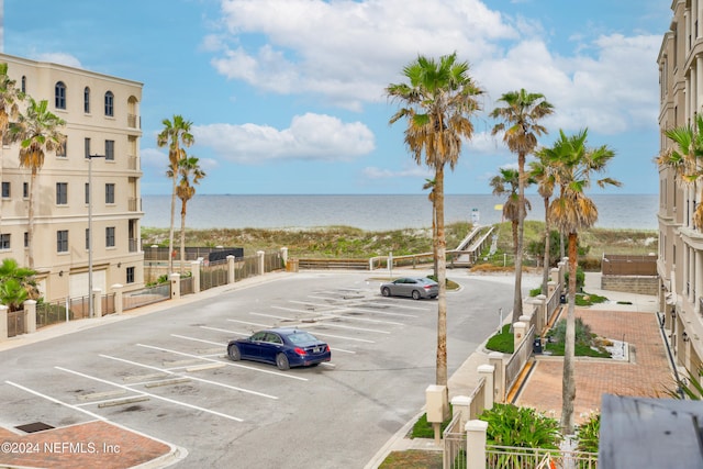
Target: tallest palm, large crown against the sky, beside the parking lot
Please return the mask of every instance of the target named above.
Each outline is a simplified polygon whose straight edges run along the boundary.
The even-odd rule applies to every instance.
[[[406,120],[405,145],[415,163],[434,169],[437,219],[437,369],[436,384],[447,384],[447,286],[446,238],[444,227],[444,171],[454,169],[464,138],[473,136],[470,118],[480,110],[483,91],[469,75],[469,64],[457,62],[456,53],[435,60],[419,56],[403,68],[408,82],[391,83],[387,94],[401,103],[390,123]],[[424,155],[424,157],[423,157]]]

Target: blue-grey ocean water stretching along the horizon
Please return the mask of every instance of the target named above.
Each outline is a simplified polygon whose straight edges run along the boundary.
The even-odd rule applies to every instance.
[[[599,210],[596,227],[657,230],[658,194],[592,194]],[[544,220],[539,196],[528,196],[527,220]],[[498,223],[495,205],[503,199],[491,194],[445,196],[445,222]],[[142,226],[170,225],[170,196],[144,196]],[[432,226],[432,203],[426,194],[404,196],[208,196],[188,202],[189,228],[299,228],[333,225],[366,231],[424,228]],[[177,200],[176,227],[180,226]]]

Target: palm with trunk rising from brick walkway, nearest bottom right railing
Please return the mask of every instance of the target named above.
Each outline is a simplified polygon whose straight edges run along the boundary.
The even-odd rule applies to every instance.
[[[548,158],[548,165],[555,169],[555,182],[559,187],[559,196],[549,204],[549,217],[567,234],[569,241],[569,306],[561,384],[561,428],[563,434],[568,435],[573,433],[573,400],[576,399],[573,361],[577,245],[579,231],[593,226],[598,221],[598,208],[585,196],[585,189],[591,186],[593,174],[605,171],[605,166],[615,153],[605,145],[589,148],[587,146],[588,130],[572,136],[567,136],[563,131],[559,131],[559,135]],[[620,181],[607,177],[596,179],[595,183],[601,188],[621,186]]]

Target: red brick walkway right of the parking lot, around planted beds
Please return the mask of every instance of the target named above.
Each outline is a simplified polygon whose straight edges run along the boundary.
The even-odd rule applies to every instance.
[[[654,313],[579,310],[577,316],[599,336],[627,342],[629,362],[577,359],[574,420],[601,407],[604,393],[661,398],[673,378],[657,316]],[[634,350],[634,351],[633,351]],[[516,404],[537,409],[559,418],[561,415],[562,360],[537,360]]]

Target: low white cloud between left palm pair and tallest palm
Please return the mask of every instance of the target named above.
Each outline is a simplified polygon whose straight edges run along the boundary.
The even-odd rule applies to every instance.
[[[294,116],[288,129],[255,124],[210,124],[192,129],[198,146],[211,147],[219,157],[243,164],[268,160],[350,160],[371,153],[372,132],[360,122],[306,113]]]

